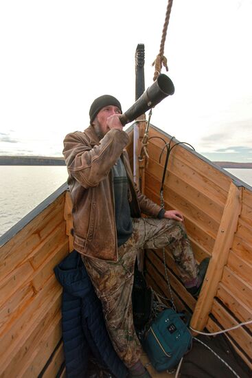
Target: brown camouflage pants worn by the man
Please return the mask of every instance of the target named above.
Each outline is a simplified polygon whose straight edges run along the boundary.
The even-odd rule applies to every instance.
[[[106,326],[115,351],[128,368],[139,360],[141,354],[131,302],[137,250],[158,249],[168,245],[181,273],[181,280],[184,283],[194,280],[198,266],[185,227],[170,219],[133,219],[133,234],[118,248],[119,258],[116,263],[82,256],[102,302]]]

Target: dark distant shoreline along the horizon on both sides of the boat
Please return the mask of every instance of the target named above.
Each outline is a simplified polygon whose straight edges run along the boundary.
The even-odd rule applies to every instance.
[[[213,162],[221,168],[252,168],[252,163]],[[65,166],[64,157],[0,155],[0,166]]]

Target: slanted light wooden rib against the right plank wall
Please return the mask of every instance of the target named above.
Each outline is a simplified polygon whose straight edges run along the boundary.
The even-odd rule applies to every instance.
[[[214,296],[216,296],[223,269],[227,264],[233,236],[237,230],[238,218],[242,207],[241,203],[242,190],[231,183],[207,274],[192,315],[190,325],[197,331],[202,331],[207,324]]]

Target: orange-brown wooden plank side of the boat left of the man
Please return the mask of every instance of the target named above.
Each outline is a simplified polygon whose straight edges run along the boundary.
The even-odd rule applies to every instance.
[[[62,288],[53,269],[69,252],[66,193],[0,249],[0,377],[62,370]]]

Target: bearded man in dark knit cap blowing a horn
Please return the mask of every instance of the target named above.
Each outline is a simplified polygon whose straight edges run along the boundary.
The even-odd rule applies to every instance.
[[[131,292],[137,249],[169,245],[187,290],[201,287],[183,214],[164,210],[133,182],[126,146],[129,137],[119,120],[122,107],[109,95],[93,101],[90,126],[65,137],[63,154],[73,201],[74,247],[102,302],[115,351],[130,377],[150,377],[140,362],[141,346],[133,325]],[[150,216],[141,218],[141,212]]]

